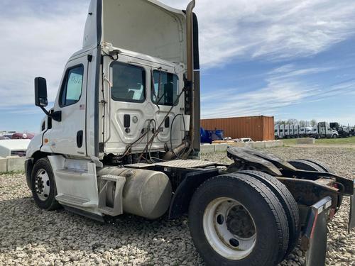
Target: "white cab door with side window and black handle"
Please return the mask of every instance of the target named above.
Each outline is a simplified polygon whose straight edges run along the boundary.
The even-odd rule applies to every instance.
[[[62,119],[53,120],[48,141],[53,153],[87,155],[85,128],[88,63],[86,55],[67,63],[53,110],[61,111]]]

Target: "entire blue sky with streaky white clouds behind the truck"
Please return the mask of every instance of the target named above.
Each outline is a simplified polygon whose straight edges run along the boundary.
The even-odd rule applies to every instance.
[[[184,9],[187,0],[163,0]],[[82,45],[88,0],[3,0],[0,131],[38,132],[33,78],[55,99]],[[202,118],[275,116],[355,125],[355,2],[197,1]]]

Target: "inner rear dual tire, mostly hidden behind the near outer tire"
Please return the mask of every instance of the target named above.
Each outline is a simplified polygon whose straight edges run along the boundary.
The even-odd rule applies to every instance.
[[[288,257],[290,253],[293,251],[295,246],[297,245],[297,240],[300,238],[300,213],[298,211],[297,202],[295,198],[288,190],[288,188],[278,181],[277,178],[271,176],[270,174],[266,174],[264,172],[259,171],[241,171],[240,174],[248,174],[251,177],[258,179],[259,181],[266,184],[269,189],[275,194],[280,203],[285,210],[285,214],[288,218],[288,228],[290,232],[290,240],[288,241],[288,249],[286,250],[285,257]]]

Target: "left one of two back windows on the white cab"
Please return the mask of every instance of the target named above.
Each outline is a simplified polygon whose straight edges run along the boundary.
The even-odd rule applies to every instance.
[[[146,99],[146,71],[121,62],[114,62],[111,67],[111,98],[114,101],[143,103]]]

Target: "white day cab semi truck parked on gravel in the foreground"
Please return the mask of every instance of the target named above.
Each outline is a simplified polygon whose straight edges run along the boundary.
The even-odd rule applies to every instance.
[[[233,163],[199,160],[200,65],[195,1],[92,0],[82,50],[67,62],[28,147],[26,179],[41,209],[106,221],[187,214],[207,265],[277,265],[301,238],[324,265],[327,223],[354,182],[319,162],[229,148]],[[64,29],[63,29],[64,30]]]

